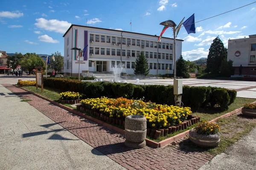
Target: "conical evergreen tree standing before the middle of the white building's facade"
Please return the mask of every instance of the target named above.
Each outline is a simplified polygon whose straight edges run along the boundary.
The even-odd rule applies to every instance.
[[[135,75],[143,75],[147,76],[149,74],[150,69],[148,68],[148,59],[144,56],[144,52],[141,51],[140,56],[137,57],[135,61]]]

